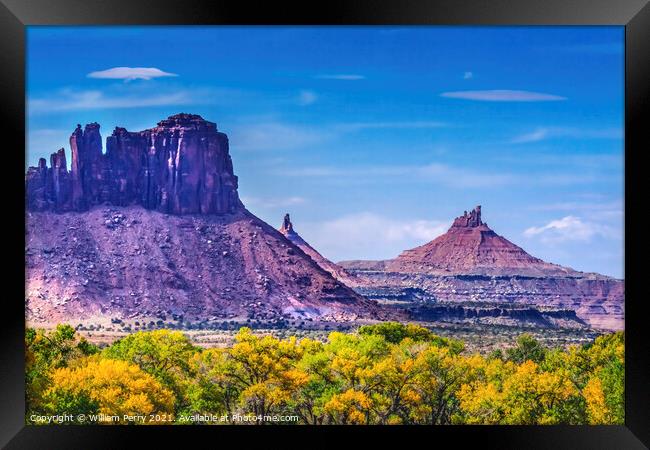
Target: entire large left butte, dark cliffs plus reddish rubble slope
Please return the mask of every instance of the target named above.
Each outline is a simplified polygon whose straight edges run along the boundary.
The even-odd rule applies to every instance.
[[[178,114],[140,132],[99,125],[26,175],[29,322],[384,317],[249,211],[228,139]],[[181,319],[179,319],[181,318]]]

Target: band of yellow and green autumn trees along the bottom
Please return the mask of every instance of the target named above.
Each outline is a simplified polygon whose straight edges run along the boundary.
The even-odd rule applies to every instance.
[[[621,424],[623,333],[505,352],[411,324],[332,332],[325,342],[242,328],[227,348],[179,331],[138,332],[98,349],[74,329],[27,330],[27,400],[40,413],[295,416],[304,424]],[[256,423],[261,423],[257,421]]]

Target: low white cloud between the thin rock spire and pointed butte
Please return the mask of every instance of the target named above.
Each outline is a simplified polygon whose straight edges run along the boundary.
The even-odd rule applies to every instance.
[[[407,248],[443,234],[449,223],[436,220],[399,220],[371,212],[301,223],[301,236],[325,257],[344,259],[393,258]]]

